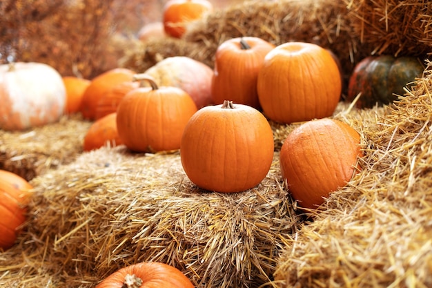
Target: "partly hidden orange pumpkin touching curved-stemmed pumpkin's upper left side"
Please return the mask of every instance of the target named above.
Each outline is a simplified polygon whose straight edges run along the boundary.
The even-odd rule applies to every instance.
[[[97,102],[95,119],[101,119],[101,117],[117,112],[117,107],[124,95],[138,87],[139,83],[134,81],[121,82],[112,87],[108,90],[106,95],[101,97],[99,102]]]

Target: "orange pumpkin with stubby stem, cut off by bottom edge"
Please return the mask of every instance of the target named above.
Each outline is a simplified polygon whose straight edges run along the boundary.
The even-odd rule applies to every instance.
[[[173,266],[141,262],[121,268],[102,280],[96,288],[194,288],[192,282]]]

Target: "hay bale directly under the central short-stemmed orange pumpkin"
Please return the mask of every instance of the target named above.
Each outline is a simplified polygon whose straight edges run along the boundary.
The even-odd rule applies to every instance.
[[[149,260],[174,265],[197,287],[258,287],[271,281],[279,249],[300,222],[277,155],[262,184],[224,194],[197,189],[178,152],[84,153],[32,180],[29,222],[13,249],[35,245],[45,274],[68,287],[93,287]]]

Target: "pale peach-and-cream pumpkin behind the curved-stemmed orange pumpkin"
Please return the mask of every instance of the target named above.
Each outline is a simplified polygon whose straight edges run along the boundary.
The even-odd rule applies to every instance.
[[[144,73],[153,77],[158,86],[181,88],[192,97],[198,109],[212,104],[213,70],[200,61],[184,56],[168,57]]]

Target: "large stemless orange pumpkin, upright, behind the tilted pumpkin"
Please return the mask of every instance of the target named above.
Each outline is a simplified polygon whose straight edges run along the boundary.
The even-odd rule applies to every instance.
[[[333,115],[340,100],[340,70],[330,52],[289,42],[268,52],[257,80],[264,115],[289,124]]]

